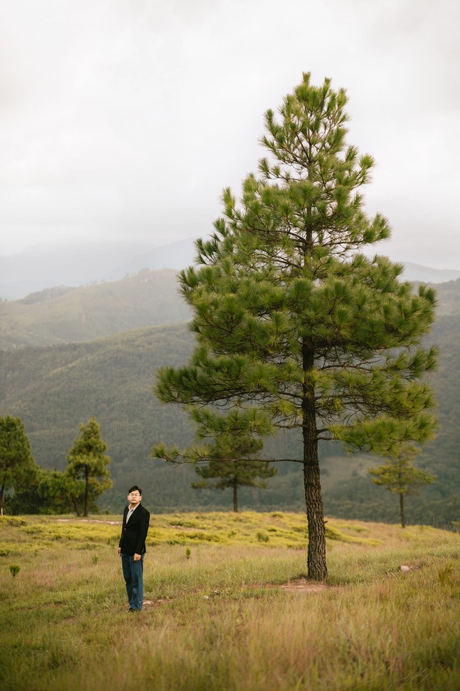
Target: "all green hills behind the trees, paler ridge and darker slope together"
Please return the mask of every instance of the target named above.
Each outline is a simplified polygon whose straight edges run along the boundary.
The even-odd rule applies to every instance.
[[[141,483],[154,511],[231,506],[215,490],[192,490],[191,467],[169,467],[150,457],[153,444],[180,447],[192,440],[184,412],[153,395],[160,366],[187,362],[193,336],[190,312],[175,270],[141,270],[118,281],[80,288],[47,288],[0,303],[0,414],[24,421],[39,465],[64,469],[79,424],[92,415],[109,446],[114,487],[100,507],[118,511],[125,488]],[[440,421],[438,437],[417,465],[436,483],[408,499],[409,522],[449,526],[460,502],[460,281],[437,284],[438,313],[427,341],[440,347],[433,377]],[[270,440],[266,458],[298,458],[295,434]],[[337,444],[320,449],[323,499],[329,515],[397,522],[397,498],[371,485],[367,469],[381,462],[346,456]],[[268,488],[242,490],[242,508],[304,510],[298,463],[277,464]]]

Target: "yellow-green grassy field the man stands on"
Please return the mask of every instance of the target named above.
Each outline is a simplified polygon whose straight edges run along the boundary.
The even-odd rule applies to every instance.
[[[460,688],[458,534],[330,520],[315,584],[304,515],[153,515],[128,614],[118,521],[0,518],[2,691]]]

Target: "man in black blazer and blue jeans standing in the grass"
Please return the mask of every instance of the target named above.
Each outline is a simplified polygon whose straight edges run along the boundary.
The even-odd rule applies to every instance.
[[[144,554],[150,513],[141,505],[142,491],[135,485],[128,490],[129,506],[123,511],[123,527],[118,544],[130,612],[140,612],[144,604]]]

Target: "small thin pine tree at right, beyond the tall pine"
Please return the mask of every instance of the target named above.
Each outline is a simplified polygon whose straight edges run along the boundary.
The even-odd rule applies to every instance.
[[[420,453],[420,449],[417,449],[413,444],[403,444],[399,449],[388,454],[390,463],[369,469],[369,473],[373,476],[372,482],[375,485],[380,485],[399,495],[399,512],[401,527],[403,528],[406,527],[404,497],[415,494],[420,486],[430,485],[435,480],[434,475],[413,466],[412,461],[417,453]]]

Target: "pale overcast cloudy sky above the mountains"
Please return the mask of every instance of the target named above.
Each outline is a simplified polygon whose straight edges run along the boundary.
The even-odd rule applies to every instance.
[[[456,0],[0,0],[0,255],[206,236],[263,112],[348,93],[391,258],[460,268]]]

